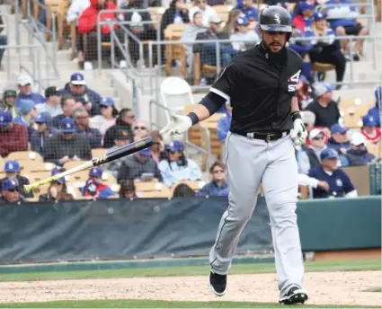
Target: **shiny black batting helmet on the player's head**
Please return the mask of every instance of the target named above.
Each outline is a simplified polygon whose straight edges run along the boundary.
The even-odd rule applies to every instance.
[[[291,18],[287,9],[271,5],[260,14],[260,27],[264,31],[291,32]]]

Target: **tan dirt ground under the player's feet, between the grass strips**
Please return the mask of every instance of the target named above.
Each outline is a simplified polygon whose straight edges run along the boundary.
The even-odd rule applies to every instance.
[[[381,305],[380,271],[309,272],[306,304]],[[228,276],[227,294],[213,296],[208,277],[116,278],[0,283],[0,303],[86,299],[151,299],[170,301],[247,301],[276,303],[275,274]]]

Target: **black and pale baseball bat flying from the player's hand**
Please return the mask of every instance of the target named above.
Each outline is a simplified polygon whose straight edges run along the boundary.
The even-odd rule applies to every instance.
[[[67,170],[65,172],[60,172],[54,176],[51,176],[47,179],[44,179],[42,181],[33,182],[31,184],[24,185],[24,190],[26,193],[30,192],[31,190],[35,190],[36,188],[39,188],[40,186],[53,182],[58,181],[60,178],[64,178],[68,175],[74,174],[75,172],[80,172],[87,170],[94,166],[99,166],[104,163],[109,163],[111,161],[120,159],[122,156],[126,156],[129,154],[137,153],[138,151],[142,149],[146,149],[150,146],[153,146],[154,141],[152,137],[146,137],[142,140],[139,140],[138,142],[134,142],[132,144],[121,146],[118,149],[112,150],[111,152],[106,152],[105,154],[102,154],[100,156],[97,156],[93,158],[90,161],[87,161],[85,163],[82,163],[81,165],[78,165],[70,170]]]

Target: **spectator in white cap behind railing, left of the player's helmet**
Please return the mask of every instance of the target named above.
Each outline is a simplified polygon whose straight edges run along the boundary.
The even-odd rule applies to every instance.
[[[223,21],[218,15],[212,15],[209,17],[209,30],[198,33],[196,40],[228,40],[226,32],[221,29],[221,23]],[[194,44],[193,52],[200,53],[200,64],[217,66],[216,59],[217,44],[211,43],[199,43]],[[227,66],[231,61],[231,58],[236,54],[231,43],[220,43],[220,66]]]

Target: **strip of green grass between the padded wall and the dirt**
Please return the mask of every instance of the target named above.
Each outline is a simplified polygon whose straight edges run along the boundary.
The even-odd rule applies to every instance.
[[[346,260],[306,262],[306,271],[360,271],[380,270],[380,260]],[[167,276],[205,276],[208,266],[167,267],[152,269],[102,269],[76,270],[58,272],[31,272],[0,274],[0,281],[36,281],[85,278],[133,278],[133,277],[167,277]],[[273,263],[233,265],[230,274],[256,274],[275,272]]]

